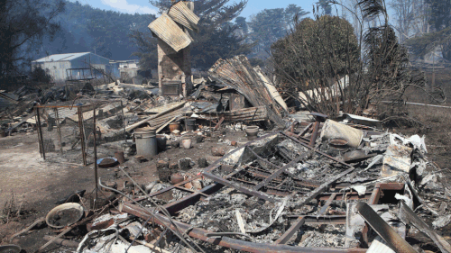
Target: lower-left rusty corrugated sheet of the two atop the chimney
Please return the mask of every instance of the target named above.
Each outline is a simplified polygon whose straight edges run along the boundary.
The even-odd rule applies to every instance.
[[[191,43],[188,35],[168,14],[161,14],[159,18],[149,24],[149,29],[175,51],[182,50]]]

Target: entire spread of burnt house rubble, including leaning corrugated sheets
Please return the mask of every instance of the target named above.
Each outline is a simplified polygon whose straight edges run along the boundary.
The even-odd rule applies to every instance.
[[[451,221],[437,201],[448,191],[424,137],[381,131],[380,122],[351,114],[290,113],[244,57],[218,61],[210,74],[185,97],[116,83],[83,95],[51,90],[39,104],[27,100],[38,91],[16,92],[23,105],[4,111],[5,132],[36,131],[47,162],[96,171],[95,194],[69,198],[82,217],[52,228],[39,250],[57,243],[84,253],[419,252],[424,245],[451,252],[437,231]],[[155,158],[168,150],[182,157]],[[133,179],[135,167],[151,164],[158,180]],[[102,180],[97,167],[115,167],[115,180],[126,181]],[[68,220],[55,208],[51,221]]]

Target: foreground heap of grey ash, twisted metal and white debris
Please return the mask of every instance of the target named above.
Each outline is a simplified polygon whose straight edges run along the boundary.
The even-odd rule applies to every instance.
[[[187,111],[170,118],[198,114],[185,104],[171,106]],[[155,127],[158,114],[124,130]],[[217,159],[207,167],[190,158],[159,160],[160,180],[152,183],[136,182],[132,170],[118,166],[117,174],[129,180],[124,186],[99,178],[102,194],[79,195],[78,203],[47,215],[56,236],[46,236],[41,249],[58,243],[77,252],[419,252],[426,244],[451,252],[437,231],[451,220],[435,201],[447,198],[446,186],[438,180],[442,170],[426,157],[424,138],[354,124],[347,116],[338,122],[312,115],[316,122],[290,122],[228,152],[214,148]],[[235,124],[223,129],[235,131]],[[183,135],[216,134],[201,123],[193,130]],[[177,138],[178,130],[170,131],[167,140]]]

